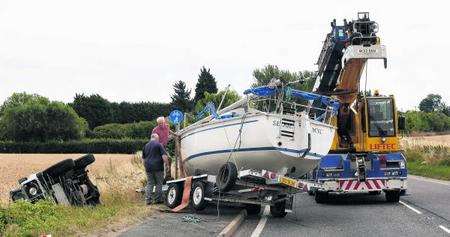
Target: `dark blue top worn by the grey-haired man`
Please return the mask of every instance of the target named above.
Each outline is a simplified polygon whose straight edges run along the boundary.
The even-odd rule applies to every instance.
[[[142,159],[147,172],[164,171],[163,155],[166,154],[164,147],[157,141],[150,141],[145,144],[142,150]]]

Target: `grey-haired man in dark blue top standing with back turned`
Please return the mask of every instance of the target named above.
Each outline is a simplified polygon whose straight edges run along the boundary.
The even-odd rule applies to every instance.
[[[162,184],[164,181],[164,164],[169,163],[164,147],[159,143],[159,136],[153,133],[150,141],[142,151],[145,172],[147,173],[147,187],[145,201],[147,205],[162,203]],[[155,192],[152,192],[156,187]]]

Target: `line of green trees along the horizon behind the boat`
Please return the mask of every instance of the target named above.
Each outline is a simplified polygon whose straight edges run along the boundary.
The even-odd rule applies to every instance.
[[[315,73],[290,72],[274,65],[256,69],[252,86],[266,85],[272,78],[290,83],[295,89],[311,91]],[[67,141],[83,138],[146,138],[158,116],[178,109],[191,114],[191,120],[208,102],[222,108],[240,99],[230,89],[219,90],[210,69],[202,67],[192,90],[182,80],[173,84],[170,103],[110,102],[99,94],[76,94],[73,102],[50,101],[36,94],[14,93],[0,106],[0,140]],[[225,96],[224,96],[225,95]],[[450,130],[450,108],[440,95],[430,94],[419,104],[419,111],[404,112],[409,132]]]

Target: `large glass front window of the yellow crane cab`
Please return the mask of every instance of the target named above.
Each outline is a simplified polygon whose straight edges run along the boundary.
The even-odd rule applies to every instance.
[[[369,109],[369,136],[395,136],[392,100],[390,98],[370,98],[367,100],[367,104]]]

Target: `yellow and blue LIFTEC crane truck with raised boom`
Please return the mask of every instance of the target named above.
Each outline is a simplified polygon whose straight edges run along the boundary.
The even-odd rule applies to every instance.
[[[333,20],[331,27],[317,62],[313,92],[339,99],[341,107],[332,147],[308,175],[308,191],[318,203],[331,198],[330,193],[381,192],[388,202],[398,202],[407,179],[399,144],[405,119],[398,115],[393,95],[377,91],[370,95],[361,88],[369,59],[382,59],[387,66],[378,24],[368,12],[360,12],[356,20],[344,20],[343,25]]]

